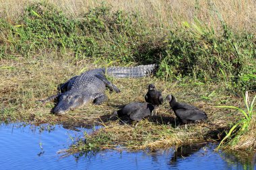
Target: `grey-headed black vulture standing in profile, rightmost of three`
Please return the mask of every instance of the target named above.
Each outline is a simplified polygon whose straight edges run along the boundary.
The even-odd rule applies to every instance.
[[[183,124],[195,122],[196,120],[207,119],[205,112],[199,110],[193,105],[177,102],[173,95],[167,95],[166,100],[170,103],[170,108],[172,108],[178,120],[180,120]]]

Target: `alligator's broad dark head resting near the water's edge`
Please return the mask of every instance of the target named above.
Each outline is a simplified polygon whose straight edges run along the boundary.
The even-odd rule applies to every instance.
[[[65,114],[69,110],[75,110],[84,104],[84,97],[81,94],[63,93],[59,97],[59,103],[54,108],[55,114]]]

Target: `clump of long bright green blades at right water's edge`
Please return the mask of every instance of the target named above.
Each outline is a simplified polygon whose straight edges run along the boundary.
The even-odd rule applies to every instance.
[[[234,106],[222,105],[216,106],[218,108],[228,108],[237,110],[242,114],[241,120],[236,122],[232,128],[228,131],[226,136],[220,142],[218,148],[255,148],[256,136],[255,136],[255,116],[254,109],[256,95],[253,100],[249,101],[248,91],[245,93],[245,110]],[[249,130],[250,129],[250,130]],[[253,133],[251,133],[253,132]]]

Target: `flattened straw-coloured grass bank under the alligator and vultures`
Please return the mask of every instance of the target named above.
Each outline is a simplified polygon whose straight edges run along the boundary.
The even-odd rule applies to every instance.
[[[49,54],[51,55],[51,54]],[[47,55],[47,56],[49,56]],[[68,64],[67,64],[68,63]],[[2,60],[3,65],[3,60]],[[74,122],[76,124],[100,124],[103,126],[98,132],[86,136],[90,141],[83,148],[161,148],[174,144],[190,144],[201,140],[220,140],[224,130],[228,130],[233,122],[242,114],[234,110],[215,108],[216,105],[243,105],[243,97],[235,97],[226,93],[222,84],[210,84],[185,81],[164,81],[156,77],[140,79],[112,79],[121,89],[121,93],[109,93],[108,101],[102,105],[90,104],[78,110],[69,112],[65,116],[51,114],[53,102],[39,103],[57,93],[57,85],[65,82],[73,75],[79,75],[85,68],[91,68],[93,63],[88,60],[68,62],[67,58],[37,57],[32,62],[27,60],[5,60],[9,68],[2,69],[1,99],[3,110],[1,120],[22,120],[32,124],[59,122]],[[96,65],[94,65],[96,67]],[[8,81],[7,81],[8,80]],[[175,126],[174,113],[168,103],[158,108],[156,116],[141,121],[137,127],[123,124],[122,120],[109,120],[114,110],[132,101],[144,101],[148,91],[148,84],[154,83],[161,90],[164,97],[170,93],[179,101],[191,103],[207,113],[208,120],[198,124]],[[72,123],[71,123],[72,124]],[[100,138],[100,140],[98,140]],[[82,142],[84,144],[84,142]]]

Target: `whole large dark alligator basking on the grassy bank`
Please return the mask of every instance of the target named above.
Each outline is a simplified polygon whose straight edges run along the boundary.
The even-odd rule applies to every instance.
[[[48,97],[41,100],[42,102],[51,101],[57,99],[59,101],[55,108],[53,108],[54,114],[65,114],[69,110],[75,110],[82,105],[88,103],[95,103],[100,105],[106,101],[105,95],[106,87],[110,91],[117,93],[120,90],[106,79],[106,75],[123,78],[123,77],[145,77],[153,74],[157,69],[157,65],[139,65],[137,67],[110,67],[99,68],[86,71],[81,75],[72,77],[61,85],[60,92],[57,95]]]

